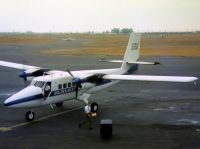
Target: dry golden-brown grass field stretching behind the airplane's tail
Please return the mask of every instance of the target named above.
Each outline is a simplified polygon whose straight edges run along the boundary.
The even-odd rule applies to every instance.
[[[70,40],[62,40],[64,38]],[[122,56],[129,35],[113,34],[21,34],[0,36],[0,44],[52,44],[80,42],[73,48],[44,49],[51,55],[115,55]],[[72,39],[72,40],[71,40]],[[142,34],[141,55],[143,56],[200,56],[200,33],[188,34]]]

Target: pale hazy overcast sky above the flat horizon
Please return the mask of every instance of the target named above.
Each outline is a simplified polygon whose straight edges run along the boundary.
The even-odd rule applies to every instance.
[[[200,30],[200,0],[0,0],[0,32]]]

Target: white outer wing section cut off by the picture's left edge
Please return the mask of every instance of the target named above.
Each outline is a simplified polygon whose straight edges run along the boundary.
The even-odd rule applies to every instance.
[[[21,69],[21,70],[40,69],[40,67],[36,67],[36,66],[11,63],[11,62],[6,62],[6,61],[0,61],[0,65],[5,66],[5,67],[10,67],[10,68]]]

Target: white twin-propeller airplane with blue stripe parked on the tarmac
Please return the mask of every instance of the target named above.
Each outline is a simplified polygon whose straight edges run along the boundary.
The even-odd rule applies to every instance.
[[[19,76],[30,85],[4,101],[6,107],[28,108],[56,104],[62,106],[64,101],[77,99],[89,104],[89,97],[95,92],[118,83],[127,81],[164,81],[164,82],[194,82],[193,76],[153,76],[133,75],[138,65],[157,65],[158,62],[138,61],[140,54],[140,34],[131,33],[123,60],[101,60],[104,62],[121,63],[120,68],[60,71],[0,61],[1,66],[23,70]],[[91,111],[97,112],[98,104],[90,104]],[[25,114],[27,121],[34,120],[35,114],[29,110]]]

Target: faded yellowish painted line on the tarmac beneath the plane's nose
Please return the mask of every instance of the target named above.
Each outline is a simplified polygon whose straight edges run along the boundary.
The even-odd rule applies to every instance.
[[[23,123],[19,123],[19,124],[10,126],[10,127],[0,127],[0,132],[11,131],[14,128],[17,128],[17,127],[22,127],[22,126],[25,126],[25,125],[33,124],[34,122],[40,122],[40,121],[43,121],[43,120],[46,120],[46,119],[49,119],[49,118],[52,118],[52,117],[60,116],[60,115],[65,114],[65,113],[69,113],[69,112],[72,112],[72,111],[79,110],[81,108],[83,108],[83,107],[81,106],[79,108],[74,108],[74,109],[71,109],[71,110],[66,110],[66,111],[63,111],[63,112],[58,112],[58,113],[55,113],[55,114],[52,114],[52,115],[48,115],[48,116],[39,118],[39,119],[37,119],[37,120],[35,120],[33,122],[23,122]]]

